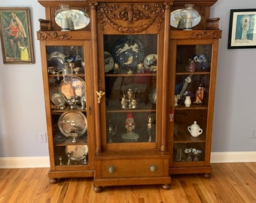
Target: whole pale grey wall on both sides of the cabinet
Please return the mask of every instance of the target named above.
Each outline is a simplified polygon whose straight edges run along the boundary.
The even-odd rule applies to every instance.
[[[38,19],[44,8],[36,0],[1,1],[1,7],[29,7],[35,64],[4,65],[0,50],[0,156],[48,156],[47,144],[38,142],[38,132],[46,132],[44,95],[41,77]],[[219,46],[218,75],[212,151],[256,151],[255,49],[227,50],[231,8],[256,8],[251,0],[219,0],[212,17],[221,17],[223,35]]]

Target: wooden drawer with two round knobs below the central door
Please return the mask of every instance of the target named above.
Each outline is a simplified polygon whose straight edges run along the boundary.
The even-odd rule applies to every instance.
[[[100,178],[162,177],[165,171],[164,159],[114,159],[100,162]]]

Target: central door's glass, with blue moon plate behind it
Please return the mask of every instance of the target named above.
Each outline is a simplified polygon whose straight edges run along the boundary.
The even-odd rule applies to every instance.
[[[154,143],[157,35],[104,35],[104,51],[106,135],[103,143]]]

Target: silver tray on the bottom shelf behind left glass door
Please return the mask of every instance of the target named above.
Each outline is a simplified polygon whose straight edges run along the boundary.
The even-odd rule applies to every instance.
[[[68,145],[66,146],[66,153],[70,153],[70,159],[73,161],[82,160],[87,156],[87,145]]]

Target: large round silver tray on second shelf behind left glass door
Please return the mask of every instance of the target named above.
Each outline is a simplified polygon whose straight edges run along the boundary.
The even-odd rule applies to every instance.
[[[67,99],[81,99],[85,94],[85,82],[81,77],[65,77],[59,83],[59,92]]]

